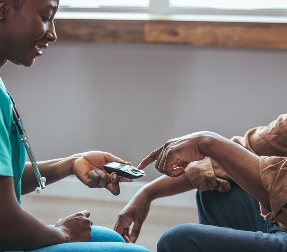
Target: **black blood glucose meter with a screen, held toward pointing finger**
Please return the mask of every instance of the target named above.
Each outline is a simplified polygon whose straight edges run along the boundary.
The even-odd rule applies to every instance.
[[[135,166],[117,162],[107,163],[104,168],[108,173],[115,172],[118,176],[130,179],[141,178],[146,175],[143,170],[138,170]]]

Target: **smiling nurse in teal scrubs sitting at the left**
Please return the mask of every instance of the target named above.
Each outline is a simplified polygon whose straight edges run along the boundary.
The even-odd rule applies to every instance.
[[[49,43],[56,40],[54,16],[59,0],[0,0],[0,70],[7,61],[32,66]],[[0,78],[0,251],[125,251],[149,250],[125,243],[115,231],[92,225],[86,210],[47,226],[21,207],[21,195],[38,186],[21,141],[11,104],[14,100]],[[110,153],[91,151],[57,160],[38,162],[46,184],[76,175],[91,188],[120,192],[119,182],[129,179],[107,174],[107,162],[124,162]]]

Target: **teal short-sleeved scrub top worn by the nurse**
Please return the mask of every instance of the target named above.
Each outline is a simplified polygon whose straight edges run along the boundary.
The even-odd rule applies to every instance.
[[[15,193],[21,204],[21,177],[28,154],[17,131],[11,103],[15,105],[0,78],[0,176],[13,177]]]

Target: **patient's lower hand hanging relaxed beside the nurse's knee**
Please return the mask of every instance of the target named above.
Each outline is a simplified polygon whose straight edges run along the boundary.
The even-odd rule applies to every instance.
[[[150,204],[151,200],[144,197],[143,194],[136,194],[119,213],[114,229],[127,243],[137,241],[143,222],[148,215]],[[132,224],[134,225],[130,232]]]

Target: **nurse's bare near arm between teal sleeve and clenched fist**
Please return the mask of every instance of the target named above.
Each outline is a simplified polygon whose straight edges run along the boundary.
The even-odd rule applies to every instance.
[[[12,177],[0,176],[0,249],[31,250],[68,242],[60,229],[46,226],[17,202]]]

